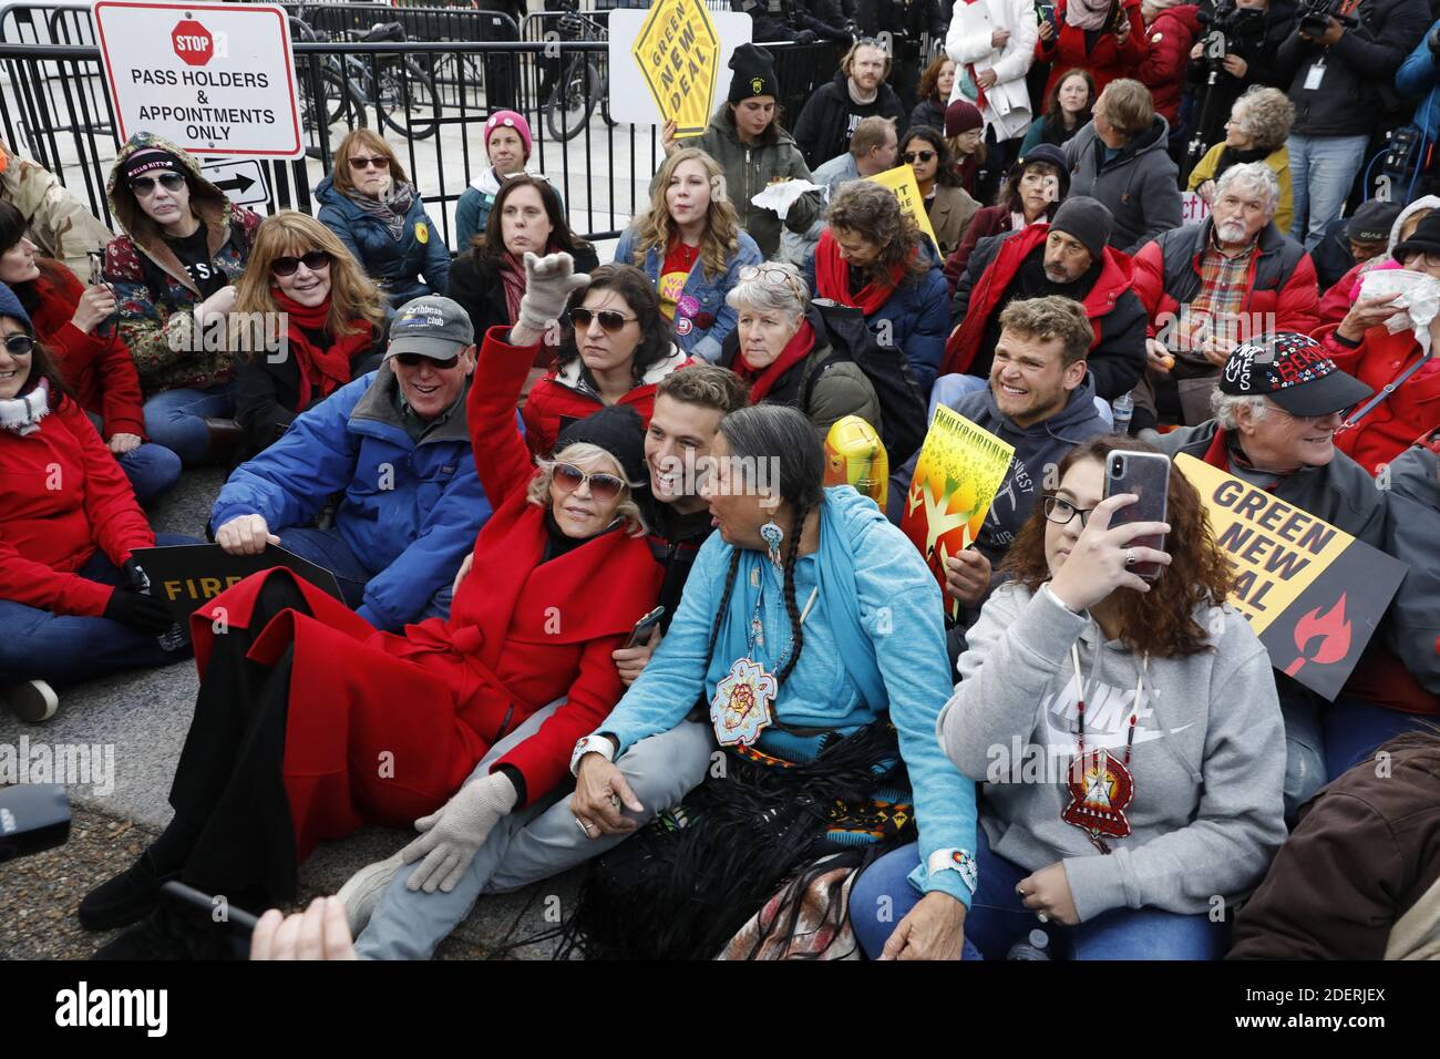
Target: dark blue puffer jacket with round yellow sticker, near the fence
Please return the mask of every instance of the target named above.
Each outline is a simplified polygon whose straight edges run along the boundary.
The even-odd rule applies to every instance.
[[[444,294],[449,288],[449,246],[425,212],[419,193],[405,215],[405,231],[399,239],[348,195],[336,190],[330,177],[315,187],[315,199],[320,202],[315,216],[356,255],[393,307],[425,294]],[[425,282],[420,282],[422,274]]]

